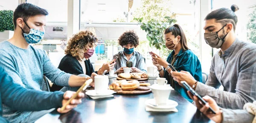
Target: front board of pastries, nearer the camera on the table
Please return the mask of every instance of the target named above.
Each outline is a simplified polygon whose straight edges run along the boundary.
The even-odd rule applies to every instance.
[[[151,92],[150,83],[146,83],[145,81],[137,81],[137,80],[119,80],[113,82],[109,85],[109,89],[112,89],[117,94],[144,94]]]

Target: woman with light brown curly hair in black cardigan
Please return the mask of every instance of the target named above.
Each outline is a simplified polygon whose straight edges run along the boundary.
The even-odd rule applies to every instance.
[[[86,74],[88,76],[95,73],[101,75],[105,70],[112,70],[115,63],[105,63],[99,71],[94,73],[93,65],[90,63],[89,58],[94,53],[96,42],[98,42],[98,39],[90,31],[80,31],[74,34],[68,41],[65,50],[66,56],[61,59],[58,68],[66,73],[74,75]],[[60,90],[61,88],[61,86],[52,85],[53,91]]]

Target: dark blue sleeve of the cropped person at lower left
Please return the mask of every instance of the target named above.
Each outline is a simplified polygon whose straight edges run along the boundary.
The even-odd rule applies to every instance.
[[[0,116],[3,114],[2,104],[17,111],[41,111],[61,107],[62,100],[63,92],[38,91],[15,84],[0,67]]]

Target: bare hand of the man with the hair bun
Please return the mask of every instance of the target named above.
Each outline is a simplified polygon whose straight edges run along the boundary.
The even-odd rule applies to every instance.
[[[189,84],[190,87],[192,87],[196,80],[195,78],[187,71],[171,71],[173,80],[177,81],[181,86],[183,84],[180,83],[180,81],[186,81],[187,84]]]

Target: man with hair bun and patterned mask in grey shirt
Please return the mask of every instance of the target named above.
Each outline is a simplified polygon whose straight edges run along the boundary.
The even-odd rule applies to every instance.
[[[235,11],[235,10],[234,10]],[[172,72],[174,80],[186,81],[202,97],[209,95],[218,106],[243,109],[256,100],[256,45],[236,38],[237,16],[228,8],[212,11],[205,18],[204,39],[212,48],[221,48],[212,58],[206,84],[188,72]],[[219,90],[220,86],[224,91]]]

